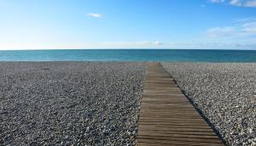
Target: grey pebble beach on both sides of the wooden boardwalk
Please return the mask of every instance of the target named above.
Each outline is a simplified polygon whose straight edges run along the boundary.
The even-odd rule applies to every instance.
[[[227,145],[256,143],[256,64],[161,63]],[[136,145],[146,62],[0,62],[0,145]]]

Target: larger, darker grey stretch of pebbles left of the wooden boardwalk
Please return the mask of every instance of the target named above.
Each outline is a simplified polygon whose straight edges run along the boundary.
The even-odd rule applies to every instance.
[[[135,145],[145,68],[0,62],[0,145]]]

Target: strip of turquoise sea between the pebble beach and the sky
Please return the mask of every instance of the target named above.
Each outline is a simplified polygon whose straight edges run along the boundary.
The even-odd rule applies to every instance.
[[[0,51],[0,61],[256,62],[256,50],[84,49]]]

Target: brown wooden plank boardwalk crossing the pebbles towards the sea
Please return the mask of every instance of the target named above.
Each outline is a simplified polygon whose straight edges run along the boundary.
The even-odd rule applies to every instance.
[[[163,67],[151,63],[144,82],[137,145],[224,144]]]

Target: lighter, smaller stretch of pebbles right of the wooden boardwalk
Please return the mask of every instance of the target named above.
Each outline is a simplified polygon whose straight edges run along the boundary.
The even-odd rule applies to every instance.
[[[256,64],[162,65],[227,145],[256,145]]]

